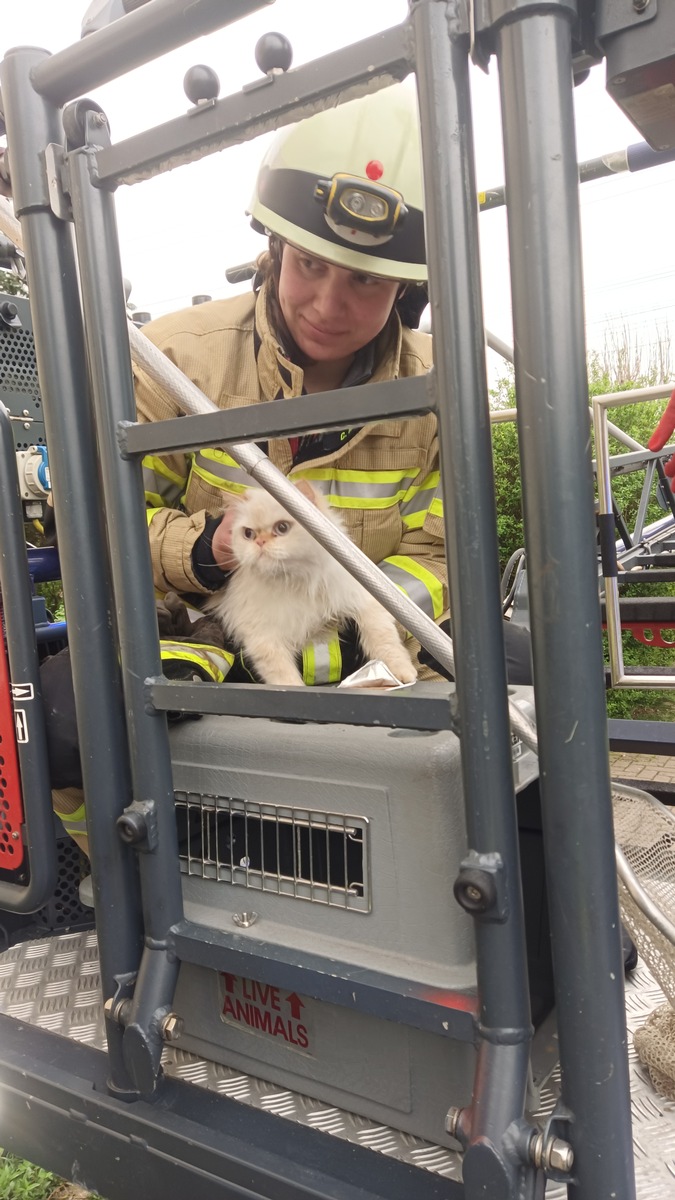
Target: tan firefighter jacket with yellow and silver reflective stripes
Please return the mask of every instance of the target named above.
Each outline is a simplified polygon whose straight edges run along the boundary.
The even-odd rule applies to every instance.
[[[299,396],[303,370],[285,355],[268,323],[265,288],[171,313],[143,332],[220,408]],[[372,383],[424,374],[431,366],[430,336],[402,326],[398,316],[374,350]],[[138,420],[179,415],[175,402],[136,366],[135,383]],[[335,451],[305,456],[297,466],[286,438],[270,442],[267,451],[291,480],[310,480],[327,494],[356,545],[441,620],[448,599],[436,418],[377,421],[346,430],[341,439]],[[155,587],[161,593],[208,594],[195,571],[196,542],[228,497],[258,485],[227,450],[209,446],[148,456],[143,470]],[[417,648],[411,640],[411,654]],[[321,668],[322,654],[315,652],[307,648],[305,680],[340,678],[335,654],[325,650]]]

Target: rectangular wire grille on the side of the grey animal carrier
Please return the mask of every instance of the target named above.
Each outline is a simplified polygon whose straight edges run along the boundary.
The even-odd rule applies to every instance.
[[[370,911],[365,817],[198,792],[177,792],[175,809],[186,875]]]

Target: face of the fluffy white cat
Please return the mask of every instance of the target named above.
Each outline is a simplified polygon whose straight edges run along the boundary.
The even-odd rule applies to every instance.
[[[240,568],[274,575],[318,562],[322,548],[279,500],[262,488],[250,488],[237,503],[232,553]]]

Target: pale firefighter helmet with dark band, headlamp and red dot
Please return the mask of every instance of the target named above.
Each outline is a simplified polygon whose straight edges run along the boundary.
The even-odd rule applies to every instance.
[[[282,130],[267,151],[251,224],[352,271],[426,280],[419,116],[394,84]]]

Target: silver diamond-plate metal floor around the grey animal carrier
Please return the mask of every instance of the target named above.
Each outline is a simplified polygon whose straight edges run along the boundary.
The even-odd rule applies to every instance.
[[[663,992],[640,964],[626,986],[629,1034],[663,1002]],[[103,1050],[96,934],[66,934],[24,942],[0,954],[0,1013]],[[638,1062],[631,1037],[628,1055],[638,1198],[675,1200],[675,1104],[653,1090],[646,1070]],[[461,1180],[461,1157],[420,1138],[399,1133],[175,1048],[167,1046],[162,1064],[166,1073],[177,1079],[380,1151],[446,1178]],[[551,1112],[558,1084],[556,1072],[542,1093],[540,1106],[533,1114],[536,1120],[543,1121]],[[565,1198],[565,1184],[549,1182],[546,1200]]]

